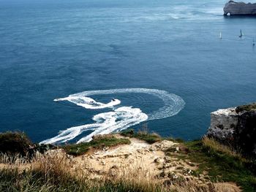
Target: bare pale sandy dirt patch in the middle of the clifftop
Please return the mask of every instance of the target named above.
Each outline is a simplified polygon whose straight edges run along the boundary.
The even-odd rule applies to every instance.
[[[120,137],[120,136],[118,136]],[[109,172],[117,173],[118,169],[135,170],[140,169],[146,172],[146,175],[164,174],[183,174],[189,176],[195,166],[191,166],[176,157],[165,155],[165,150],[172,148],[178,151],[178,143],[164,140],[152,145],[130,138],[130,145],[120,145],[113,148],[96,150],[94,153],[76,157],[76,164],[82,165],[90,172],[96,174],[106,174]]]

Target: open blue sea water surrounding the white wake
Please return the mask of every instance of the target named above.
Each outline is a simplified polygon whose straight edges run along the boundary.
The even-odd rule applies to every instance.
[[[0,131],[25,131],[41,142],[116,107],[150,115],[166,104],[148,93],[90,96],[121,101],[99,110],[53,101],[148,88],[180,96],[184,108],[133,128],[146,123],[162,136],[201,137],[210,112],[256,101],[256,18],[223,17],[225,2],[0,0]]]

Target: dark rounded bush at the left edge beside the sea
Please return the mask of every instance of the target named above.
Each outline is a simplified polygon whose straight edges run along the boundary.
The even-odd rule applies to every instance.
[[[0,153],[25,156],[32,145],[29,137],[22,132],[8,131],[0,134]]]

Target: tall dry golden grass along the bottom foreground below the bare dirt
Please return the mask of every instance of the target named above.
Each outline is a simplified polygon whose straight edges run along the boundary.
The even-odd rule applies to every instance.
[[[91,179],[94,173],[76,165],[72,157],[61,150],[36,155],[30,162],[18,155],[12,158],[1,155],[0,160],[5,165],[0,167],[0,191],[217,191],[212,183],[159,180],[138,167],[113,168],[102,177]]]

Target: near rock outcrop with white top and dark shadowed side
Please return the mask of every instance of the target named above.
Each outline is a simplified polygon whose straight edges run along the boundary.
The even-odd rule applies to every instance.
[[[248,106],[251,105],[211,112],[211,126],[206,135],[246,155],[256,155],[256,109]]]

